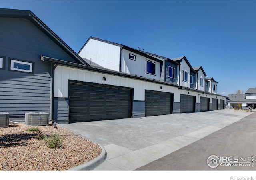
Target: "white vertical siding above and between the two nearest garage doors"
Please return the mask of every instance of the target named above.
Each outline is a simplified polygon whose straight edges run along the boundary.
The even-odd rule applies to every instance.
[[[106,77],[106,81],[103,80],[103,76]],[[77,80],[82,82],[92,82],[98,84],[108,84],[113,86],[134,88],[133,100],[136,101],[145,100],[145,90],[171,92],[175,95],[180,94],[180,90],[178,90],[178,88],[174,86],[166,86],[143,80],[136,80],[132,78],[125,78],[122,76],[115,76],[109,74],[102,74],[99,72],[80,70],[76,68],[69,68],[59,65],[55,69],[54,97],[68,98],[68,80]],[[160,86],[162,86],[162,89],[160,89]],[[180,102],[179,95],[175,95],[174,102]]]

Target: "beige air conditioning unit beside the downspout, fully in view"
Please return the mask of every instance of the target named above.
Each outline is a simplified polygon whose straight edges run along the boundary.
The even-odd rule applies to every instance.
[[[25,124],[27,126],[45,126],[49,123],[49,113],[47,112],[26,112]]]

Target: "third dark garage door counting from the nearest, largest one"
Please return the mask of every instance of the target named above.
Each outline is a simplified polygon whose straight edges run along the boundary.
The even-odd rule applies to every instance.
[[[195,110],[196,110],[196,96],[180,94],[180,113],[195,112]]]

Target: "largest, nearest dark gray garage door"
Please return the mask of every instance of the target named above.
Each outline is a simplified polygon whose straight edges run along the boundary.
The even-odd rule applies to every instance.
[[[131,117],[129,88],[104,84],[69,83],[69,123]]]

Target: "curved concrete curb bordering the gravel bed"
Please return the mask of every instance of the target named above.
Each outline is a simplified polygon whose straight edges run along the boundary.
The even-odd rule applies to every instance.
[[[81,164],[79,166],[76,166],[74,168],[70,168],[66,171],[88,171],[88,170],[93,170],[94,168],[96,168],[97,166],[99,166],[102,162],[104,162],[107,158],[107,152],[106,150],[103,148],[102,145],[98,144],[101,148],[101,153],[100,156],[98,156],[97,158],[86,162],[84,164]]]

